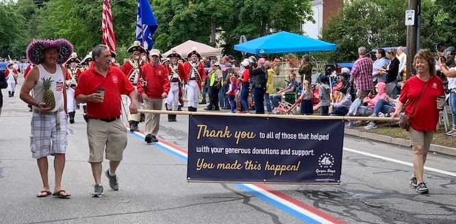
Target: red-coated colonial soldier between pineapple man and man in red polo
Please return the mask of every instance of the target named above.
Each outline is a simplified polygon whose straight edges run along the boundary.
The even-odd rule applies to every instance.
[[[81,70],[77,68],[77,64],[81,63],[77,59],[77,54],[74,52],[71,54],[70,60],[66,62],[70,67],[67,69],[66,73],[66,110],[68,111],[68,116],[70,117],[70,123],[75,123],[75,113],[76,113],[76,99],[75,99],[75,90],[77,86],[77,78],[81,75]]]

